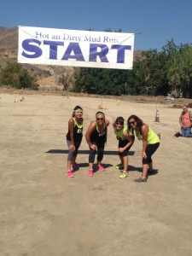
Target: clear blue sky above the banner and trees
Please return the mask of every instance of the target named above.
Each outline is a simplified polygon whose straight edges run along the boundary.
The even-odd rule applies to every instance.
[[[192,0],[1,0],[0,26],[133,32],[135,50],[192,43]]]

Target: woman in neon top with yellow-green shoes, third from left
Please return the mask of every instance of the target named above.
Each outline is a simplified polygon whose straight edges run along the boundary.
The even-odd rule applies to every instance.
[[[116,169],[124,170],[119,176],[120,178],[128,177],[128,151],[130,150],[132,144],[134,143],[134,135],[131,130],[124,125],[124,118],[119,116],[113,123],[114,134],[119,140],[118,151],[120,164],[116,166]]]

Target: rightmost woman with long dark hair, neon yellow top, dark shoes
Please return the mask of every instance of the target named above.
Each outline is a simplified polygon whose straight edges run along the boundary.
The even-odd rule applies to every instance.
[[[137,138],[143,141],[142,160],[143,160],[143,173],[142,177],[137,178],[135,181],[147,182],[148,172],[153,172],[152,154],[160,146],[160,138],[151,128],[143,123],[143,120],[138,118],[137,115],[132,114],[127,120],[127,124],[136,131]]]

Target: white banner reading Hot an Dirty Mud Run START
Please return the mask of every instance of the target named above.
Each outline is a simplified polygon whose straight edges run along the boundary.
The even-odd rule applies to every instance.
[[[19,26],[18,62],[132,69],[135,34]]]

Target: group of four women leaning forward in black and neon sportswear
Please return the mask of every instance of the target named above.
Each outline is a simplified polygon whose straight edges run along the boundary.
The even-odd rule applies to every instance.
[[[68,121],[67,132],[67,176],[74,177],[73,168],[79,168],[76,162],[78,149],[83,137],[83,109],[76,106],[73,109],[72,118]],[[105,171],[102,166],[102,158],[104,153],[105,143],[108,136],[108,119],[105,119],[105,114],[102,111],[96,113],[96,119],[90,122],[90,125],[85,133],[85,139],[90,147],[89,154],[89,172],[90,177],[93,176],[93,164],[97,151],[97,168],[99,171]],[[113,123],[114,133],[119,140],[119,159],[120,164],[116,166],[117,169],[122,170],[120,178],[128,177],[128,151],[135,140],[135,134],[139,140],[143,141],[142,161],[143,174],[142,177],[137,178],[136,182],[147,182],[148,172],[153,172],[152,154],[160,146],[160,138],[150,127],[143,123],[136,115],[131,115],[127,120],[127,125],[124,123],[123,117],[118,117]]]

